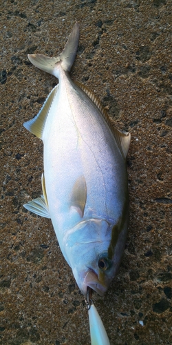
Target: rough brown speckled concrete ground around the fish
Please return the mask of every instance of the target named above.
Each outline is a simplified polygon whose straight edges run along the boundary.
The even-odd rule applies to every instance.
[[[94,302],[111,345],[172,344],[171,14],[171,0],[1,1],[1,344],[90,344],[51,221],[22,206],[41,194],[43,171],[42,142],[22,124],[56,83],[27,54],[61,52],[76,20],[72,77],[132,136],[126,250]]]

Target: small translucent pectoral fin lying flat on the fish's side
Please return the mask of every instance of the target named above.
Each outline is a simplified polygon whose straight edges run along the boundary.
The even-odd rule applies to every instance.
[[[72,193],[69,197],[69,206],[79,208],[82,217],[84,214],[85,203],[87,199],[87,185],[84,176],[78,177],[72,188]]]

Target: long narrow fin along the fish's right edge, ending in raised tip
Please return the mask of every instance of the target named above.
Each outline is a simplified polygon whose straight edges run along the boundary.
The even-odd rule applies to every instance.
[[[78,83],[78,81],[75,81],[76,85],[85,92],[85,94],[91,99],[91,101],[96,105],[98,110],[100,110],[101,114],[103,115],[103,118],[107,122],[112,134],[114,135],[116,142],[118,144],[118,147],[122,153],[122,155],[126,158],[127,152],[129,150],[129,144],[131,140],[130,133],[122,133],[120,130],[117,130],[114,128],[114,126],[111,123],[111,119],[109,118],[109,115],[107,114],[107,111],[105,110],[103,104],[99,101],[99,99],[94,95],[92,91],[90,91],[85,85]]]

